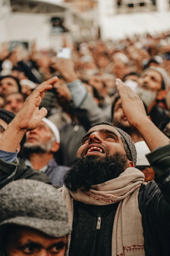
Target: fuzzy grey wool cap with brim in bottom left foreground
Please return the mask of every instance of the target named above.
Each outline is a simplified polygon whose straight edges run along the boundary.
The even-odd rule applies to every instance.
[[[20,179],[0,190],[0,229],[16,224],[51,237],[71,232],[67,209],[59,191],[41,181]]]

